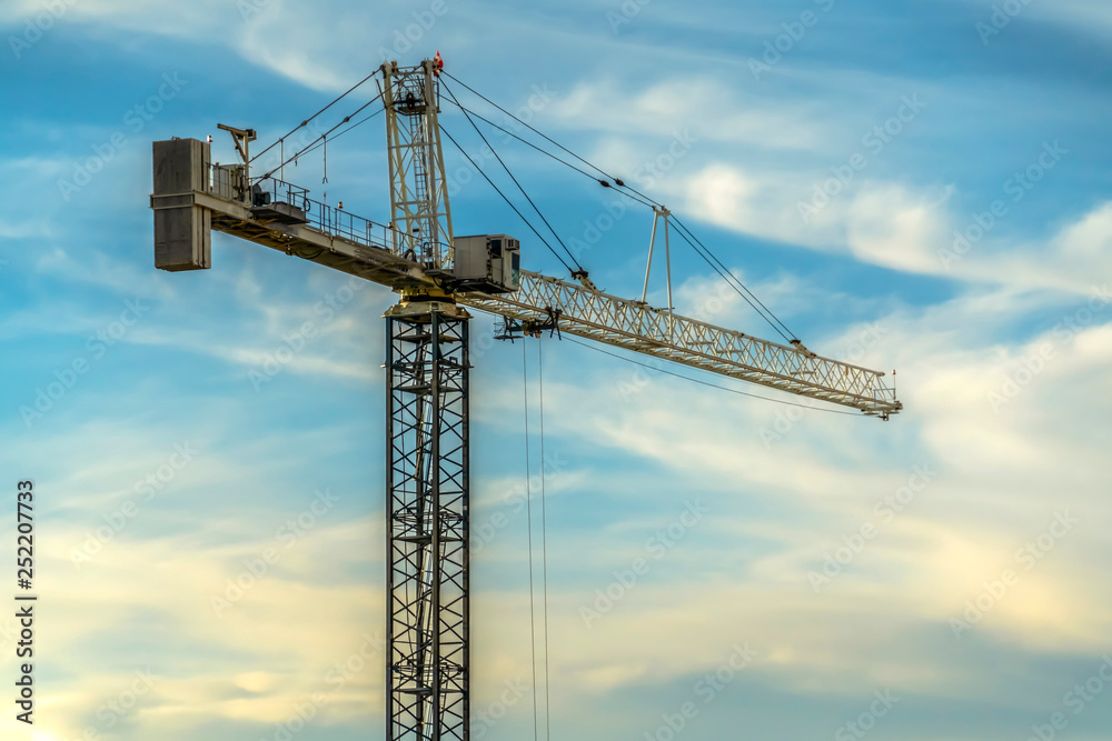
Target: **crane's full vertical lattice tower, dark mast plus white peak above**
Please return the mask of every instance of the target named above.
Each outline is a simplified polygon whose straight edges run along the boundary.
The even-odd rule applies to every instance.
[[[451,269],[436,62],[383,64],[395,253]],[[444,290],[386,312],[386,738],[467,739],[470,316]]]

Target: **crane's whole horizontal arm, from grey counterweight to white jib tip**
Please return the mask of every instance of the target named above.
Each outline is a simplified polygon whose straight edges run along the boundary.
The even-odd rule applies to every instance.
[[[161,224],[163,231],[182,233],[176,241],[159,242],[156,263],[163,269],[210,267],[208,230],[215,229],[398,291],[445,284],[444,271],[413,260],[409,251],[396,251],[397,232],[390,227],[311,201],[272,178],[260,190],[258,182],[252,186],[235,169],[212,166],[203,142],[157,143],[205,160],[196,167],[190,163],[187,169],[196,170],[191,178],[178,178],[180,183],[163,187],[162,192],[156,188],[151,196],[156,232]],[[454,298],[515,320],[536,320],[558,309],[559,329],[569,334],[866,414],[887,418],[903,408],[882,372],[528,270],[520,270],[519,277],[520,288],[513,292],[465,290]]]

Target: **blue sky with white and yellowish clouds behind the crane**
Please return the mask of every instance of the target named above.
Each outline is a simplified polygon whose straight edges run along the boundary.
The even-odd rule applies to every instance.
[[[383,738],[393,296],[222,234],[212,270],[156,271],[150,142],[231,161],[217,123],[268,144],[437,50],[672,208],[810,348],[897,369],[906,407],[797,412],[545,339],[542,464],[538,343],[477,317],[473,738],[534,722],[523,354],[553,738],[1112,738],[1108,3],[13,0],[0,31],[0,462],[39,492],[41,595],[37,722],[3,738]],[[652,213],[497,146],[636,297]],[[384,148],[380,118],[330,143],[329,202],[385,220]],[[286,176],[319,198],[321,167]],[[454,177],[456,233],[563,273]],[[679,310],[775,339],[673,250]]]

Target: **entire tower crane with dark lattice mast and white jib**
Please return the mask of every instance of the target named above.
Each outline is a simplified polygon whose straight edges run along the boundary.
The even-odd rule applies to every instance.
[[[509,333],[558,330],[882,419],[902,404],[884,373],[820,357],[798,340],[771,342],[675,313],[671,274],[669,306],[649,306],[662,219],[668,249],[671,212],[663,207],[654,207],[639,301],[599,291],[582,270],[570,282],[523,269],[522,243],[509,234],[456,236],[438,121],[439,53],[413,67],[386,62],[379,73],[371,102],[381,100],[386,114],[386,223],[309,198],[275,177],[279,168],[252,176],[256,132],[221,124],[241,162],[214,163],[207,141],[153,142],[155,266],[210,268],[215,229],[399,294],[385,312],[386,738],[466,740],[471,310],[503,317]],[[327,147],[327,133],[321,139]]]

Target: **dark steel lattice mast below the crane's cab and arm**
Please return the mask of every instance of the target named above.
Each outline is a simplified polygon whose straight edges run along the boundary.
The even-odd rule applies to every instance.
[[[469,319],[386,312],[388,741],[468,739]]]

